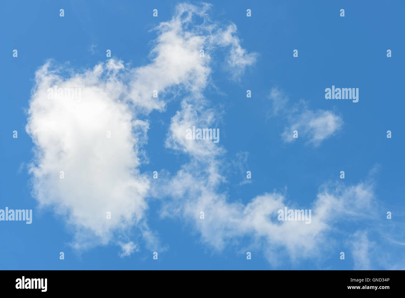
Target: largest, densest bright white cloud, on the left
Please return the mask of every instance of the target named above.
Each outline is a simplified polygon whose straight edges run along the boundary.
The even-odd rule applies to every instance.
[[[40,205],[54,206],[69,224],[82,234],[93,232],[102,243],[113,230],[142,219],[149,189],[148,179],[136,169],[148,123],[134,118],[119,100],[120,68],[110,60],[64,79],[48,62],[36,72],[26,127],[35,144],[30,172]],[[81,88],[81,99],[49,99],[53,85]]]

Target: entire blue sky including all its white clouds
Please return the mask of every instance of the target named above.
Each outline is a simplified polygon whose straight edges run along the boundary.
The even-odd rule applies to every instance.
[[[0,209],[33,220],[0,221],[0,268],[404,269],[404,4],[187,3],[3,4]],[[47,102],[54,81],[81,105]]]

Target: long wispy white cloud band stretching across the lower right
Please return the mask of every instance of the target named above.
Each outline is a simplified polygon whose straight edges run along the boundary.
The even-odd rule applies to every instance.
[[[165,187],[173,200],[164,204],[162,216],[183,217],[216,251],[249,237],[254,249],[261,250],[274,266],[284,257],[315,259],[328,251],[329,232],[339,223],[373,215],[373,190],[362,183],[325,187],[312,204],[305,206],[277,192],[258,195],[247,204],[232,202],[227,193],[219,192],[220,180],[214,177],[220,174],[212,163],[220,165],[221,160],[209,160],[209,166],[203,162],[183,165]],[[311,209],[311,224],[278,221],[277,211],[286,206]],[[205,213],[204,219],[200,219],[200,211]]]

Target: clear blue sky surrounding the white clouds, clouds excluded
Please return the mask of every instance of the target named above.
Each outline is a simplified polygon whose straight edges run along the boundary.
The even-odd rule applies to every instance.
[[[193,2],[192,2],[193,3]],[[234,83],[220,68],[213,68],[213,82],[227,96],[206,94],[213,104],[224,104],[221,143],[228,162],[238,152],[249,152],[247,164],[253,182],[237,184],[243,172],[228,178],[229,196],[249,202],[253,196],[288,188],[288,199],[302,204],[315,199],[326,180],[358,183],[375,164],[375,194],[393,220],[405,222],[404,97],[403,68],[405,14],[402,1],[211,1],[215,21],[232,21],[242,47],[259,53],[258,62]],[[49,58],[69,61],[72,66],[91,68],[106,60],[105,51],[133,66],[149,62],[148,53],[156,32],[149,31],[171,19],[175,2],[169,1],[9,1],[1,4],[0,67],[0,209],[33,209],[31,225],[0,222],[0,269],[272,269],[261,253],[245,254],[233,247],[214,253],[182,221],[160,219],[159,202],[150,202],[148,222],[169,249],[156,262],[141,249],[120,258],[114,245],[78,253],[69,243],[71,231],[51,209],[38,210],[32,197],[30,175],[25,166],[32,160],[33,143],[25,132],[26,109],[34,83],[34,72]],[[59,17],[64,9],[65,17]],[[152,17],[158,9],[158,17]],[[246,17],[246,9],[252,17]],[[345,17],[339,10],[345,9]],[[94,54],[90,51],[91,45]],[[18,57],[13,57],[13,49]],[[299,57],[292,51],[298,49]],[[386,50],[392,57],[386,57]],[[332,85],[358,87],[359,102],[329,101],[324,89]],[[269,92],[278,86],[291,103],[305,99],[310,109],[334,109],[344,121],[342,129],[321,146],[282,143],[284,124],[266,118],[271,110]],[[246,98],[246,90],[252,98]],[[150,163],[141,172],[178,169],[184,156],[173,155],[164,139],[179,101],[165,113],[151,114],[149,142],[145,146]],[[158,120],[162,120],[162,125]],[[12,138],[18,130],[18,139]],[[386,138],[386,131],[392,138]],[[240,138],[242,137],[242,140]],[[386,223],[386,221],[381,221]],[[354,230],[358,227],[354,227]],[[335,255],[312,262],[283,262],[282,269],[352,269],[353,260],[339,260],[345,251],[345,235]],[[370,237],[371,241],[379,238]],[[405,242],[405,241],[403,241]],[[404,247],[404,246],[402,246]],[[347,249],[348,250],[348,249]],[[59,259],[64,251],[65,260]],[[376,269],[379,269],[378,267]]]

